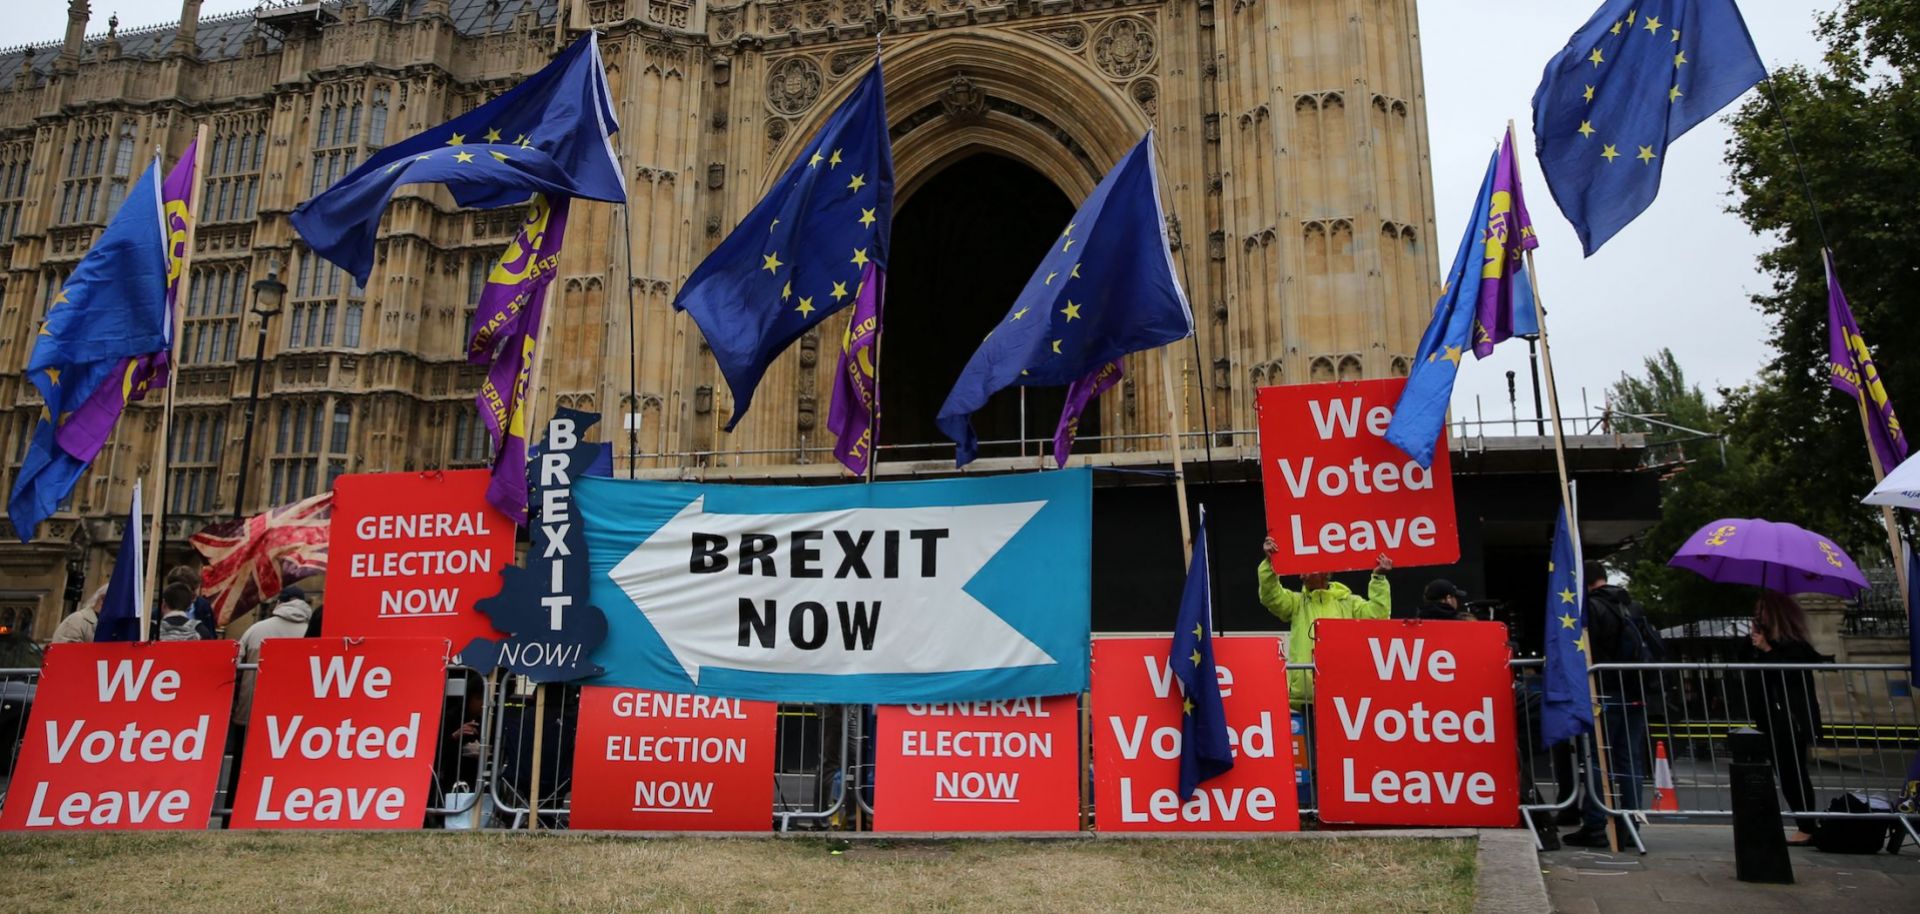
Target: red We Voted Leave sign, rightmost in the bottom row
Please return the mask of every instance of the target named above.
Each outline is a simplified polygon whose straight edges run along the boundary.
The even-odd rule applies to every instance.
[[[1323,620],[1313,649],[1321,822],[1513,828],[1507,626]]]

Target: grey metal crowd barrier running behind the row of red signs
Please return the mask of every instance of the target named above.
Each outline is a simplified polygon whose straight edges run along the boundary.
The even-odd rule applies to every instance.
[[[240,674],[255,668],[240,664]],[[1292,668],[1313,670],[1313,664]],[[1594,797],[1599,810],[1615,816],[1626,837],[1645,851],[1636,820],[1732,814],[1730,735],[1755,728],[1768,735],[1784,822],[1870,816],[1899,822],[1920,843],[1920,814],[1826,808],[1839,795],[1899,803],[1908,764],[1920,753],[1920,699],[1907,684],[1905,666],[1596,664],[1592,682],[1601,707],[1603,753],[1592,753],[1586,737],[1553,749],[1542,745],[1542,661],[1513,662],[1517,820],[1561,816]],[[0,797],[27,735],[38,676],[35,668],[0,668]],[[564,828],[578,709],[576,686],[536,689],[515,676],[449,666],[426,828]],[[536,730],[538,803],[532,803]],[[1319,808],[1313,732],[1304,735],[1308,755],[1300,766],[1306,778],[1298,797],[1302,814],[1313,816]],[[774,828],[868,828],[874,814],[870,707],[780,705],[776,739],[774,808],[768,810]],[[232,812],[236,749],[228,741],[215,797],[219,820]],[[1607,757],[1605,783],[1597,755]],[[1661,755],[1672,776],[1670,808],[1653,808]]]

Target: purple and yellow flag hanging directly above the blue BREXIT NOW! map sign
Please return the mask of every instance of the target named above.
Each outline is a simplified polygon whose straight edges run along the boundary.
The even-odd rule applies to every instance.
[[[526,522],[526,396],[540,342],[540,315],[566,238],[568,198],[534,194],[526,221],[488,273],[474,307],[467,361],[486,365],[476,401],[493,444],[486,499],[515,524]]]

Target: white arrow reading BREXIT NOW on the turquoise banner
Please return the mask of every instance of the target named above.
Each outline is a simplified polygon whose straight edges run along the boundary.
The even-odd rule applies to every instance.
[[[1054,662],[962,589],[1044,501],[787,515],[707,515],[705,501],[607,572],[695,684],[703,666],[845,676]],[[743,538],[772,551],[741,561]]]

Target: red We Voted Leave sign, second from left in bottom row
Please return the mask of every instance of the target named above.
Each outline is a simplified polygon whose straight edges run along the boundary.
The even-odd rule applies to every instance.
[[[440,637],[273,637],[232,828],[420,828],[447,682]]]

